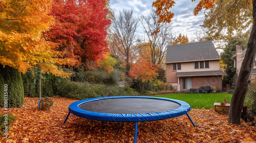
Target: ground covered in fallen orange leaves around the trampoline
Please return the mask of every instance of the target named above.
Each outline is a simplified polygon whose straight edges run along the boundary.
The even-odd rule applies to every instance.
[[[135,123],[100,122],[70,114],[68,107],[77,100],[51,98],[53,107],[38,110],[38,99],[25,98],[20,108],[9,109],[17,116],[8,139],[1,142],[134,142]],[[26,106],[25,106],[26,105]],[[29,106],[27,106],[29,105]],[[3,112],[2,110],[1,112]],[[256,142],[256,128],[247,123],[228,123],[227,114],[214,110],[192,109],[186,115],[161,121],[139,122],[138,142]]]

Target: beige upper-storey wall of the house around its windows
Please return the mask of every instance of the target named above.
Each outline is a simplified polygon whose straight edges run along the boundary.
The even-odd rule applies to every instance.
[[[195,69],[194,62],[184,62],[184,63],[181,63],[181,70],[177,70],[177,72],[210,71],[210,70],[220,70],[220,61],[219,60],[209,61],[209,68],[199,68],[199,69]]]

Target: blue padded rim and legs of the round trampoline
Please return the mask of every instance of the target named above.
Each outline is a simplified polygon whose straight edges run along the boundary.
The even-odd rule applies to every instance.
[[[97,101],[97,100],[104,100],[104,99],[119,99],[119,98],[145,98],[145,99],[156,99],[156,100],[166,100],[170,102],[175,102],[180,105],[179,108],[169,111],[163,112],[155,112],[155,113],[136,113],[136,114],[115,114],[115,113],[100,113],[100,112],[92,112],[80,109],[78,106],[87,102]],[[103,108],[105,103],[101,105],[96,105],[95,108]],[[92,98],[86,100],[80,100],[70,104],[69,106],[69,113],[64,121],[64,124],[68,120],[70,113],[83,117],[88,118],[90,120],[97,120],[97,121],[114,121],[114,122],[135,122],[135,137],[134,142],[137,142],[137,129],[138,129],[138,122],[144,121],[156,121],[156,120],[164,120],[166,118],[173,118],[177,116],[181,116],[186,114],[189,118],[190,122],[193,124],[194,127],[196,125],[191,120],[190,116],[188,115],[188,111],[190,111],[190,105],[184,101],[174,100],[174,99],[167,99],[167,98],[158,98],[158,97],[133,97],[133,96],[118,96],[118,97],[99,97],[99,98]]]

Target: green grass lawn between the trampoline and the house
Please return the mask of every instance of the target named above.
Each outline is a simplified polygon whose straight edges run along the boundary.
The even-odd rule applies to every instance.
[[[228,93],[179,93],[167,94],[162,96],[153,96],[160,98],[169,98],[185,101],[191,108],[195,109],[213,109],[215,102],[223,102],[226,97],[227,103],[230,103],[232,94]]]

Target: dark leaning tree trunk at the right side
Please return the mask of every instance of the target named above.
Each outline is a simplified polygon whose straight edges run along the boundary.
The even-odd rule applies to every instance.
[[[234,93],[231,99],[229,114],[228,114],[229,116],[228,123],[233,123],[233,124],[241,124],[242,107],[244,104],[245,96],[247,94],[247,90],[250,86],[250,78],[251,78],[252,68],[254,66],[254,61],[255,61],[256,0],[252,1],[252,7],[253,7],[253,10],[252,10],[253,24],[252,24],[251,35],[248,41],[247,51],[242,63],[236,88],[234,89]]]

